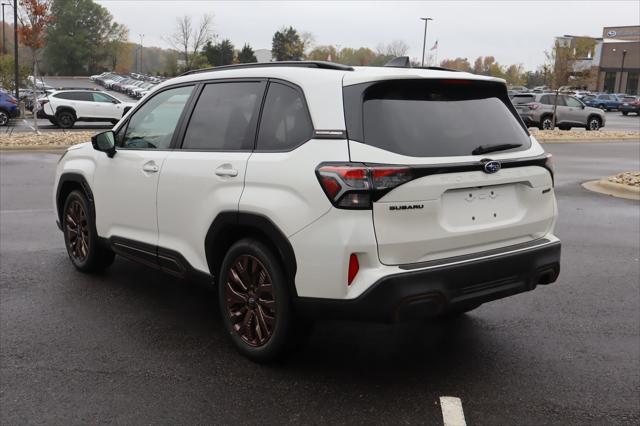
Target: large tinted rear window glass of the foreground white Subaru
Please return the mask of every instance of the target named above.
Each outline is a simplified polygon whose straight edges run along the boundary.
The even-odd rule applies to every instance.
[[[397,154],[459,156],[480,145],[531,144],[500,84],[393,80],[370,85],[361,99],[362,142]]]

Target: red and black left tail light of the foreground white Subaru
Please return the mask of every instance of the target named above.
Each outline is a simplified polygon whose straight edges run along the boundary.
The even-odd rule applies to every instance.
[[[320,165],[316,174],[335,207],[355,210],[370,209],[371,203],[414,178],[409,167],[357,164]]]

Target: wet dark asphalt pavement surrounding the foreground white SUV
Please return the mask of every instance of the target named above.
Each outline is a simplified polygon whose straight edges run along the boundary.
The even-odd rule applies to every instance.
[[[0,154],[2,424],[640,423],[640,206],[580,183],[640,170],[640,144],[558,144],[559,281],[453,322],[319,322],[288,362],[227,341],[215,291],[124,259],[71,266],[59,154]]]

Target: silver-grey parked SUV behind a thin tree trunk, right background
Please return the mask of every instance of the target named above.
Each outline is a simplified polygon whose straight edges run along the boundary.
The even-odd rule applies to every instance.
[[[555,98],[553,93],[523,93],[515,95],[511,102],[527,126],[549,130],[553,127]],[[561,130],[572,127],[598,130],[605,125],[602,110],[588,107],[573,96],[558,95],[556,114],[556,125]]]

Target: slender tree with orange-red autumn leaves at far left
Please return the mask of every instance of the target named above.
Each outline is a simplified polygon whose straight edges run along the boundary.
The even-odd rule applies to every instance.
[[[20,9],[22,25],[18,29],[22,44],[31,50],[33,63],[33,125],[36,133],[38,131],[38,120],[36,117],[38,103],[36,101],[36,83],[38,82],[38,54],[46,42],[46,28],[53,18],[51,17],[51,0],[22,0]]]

